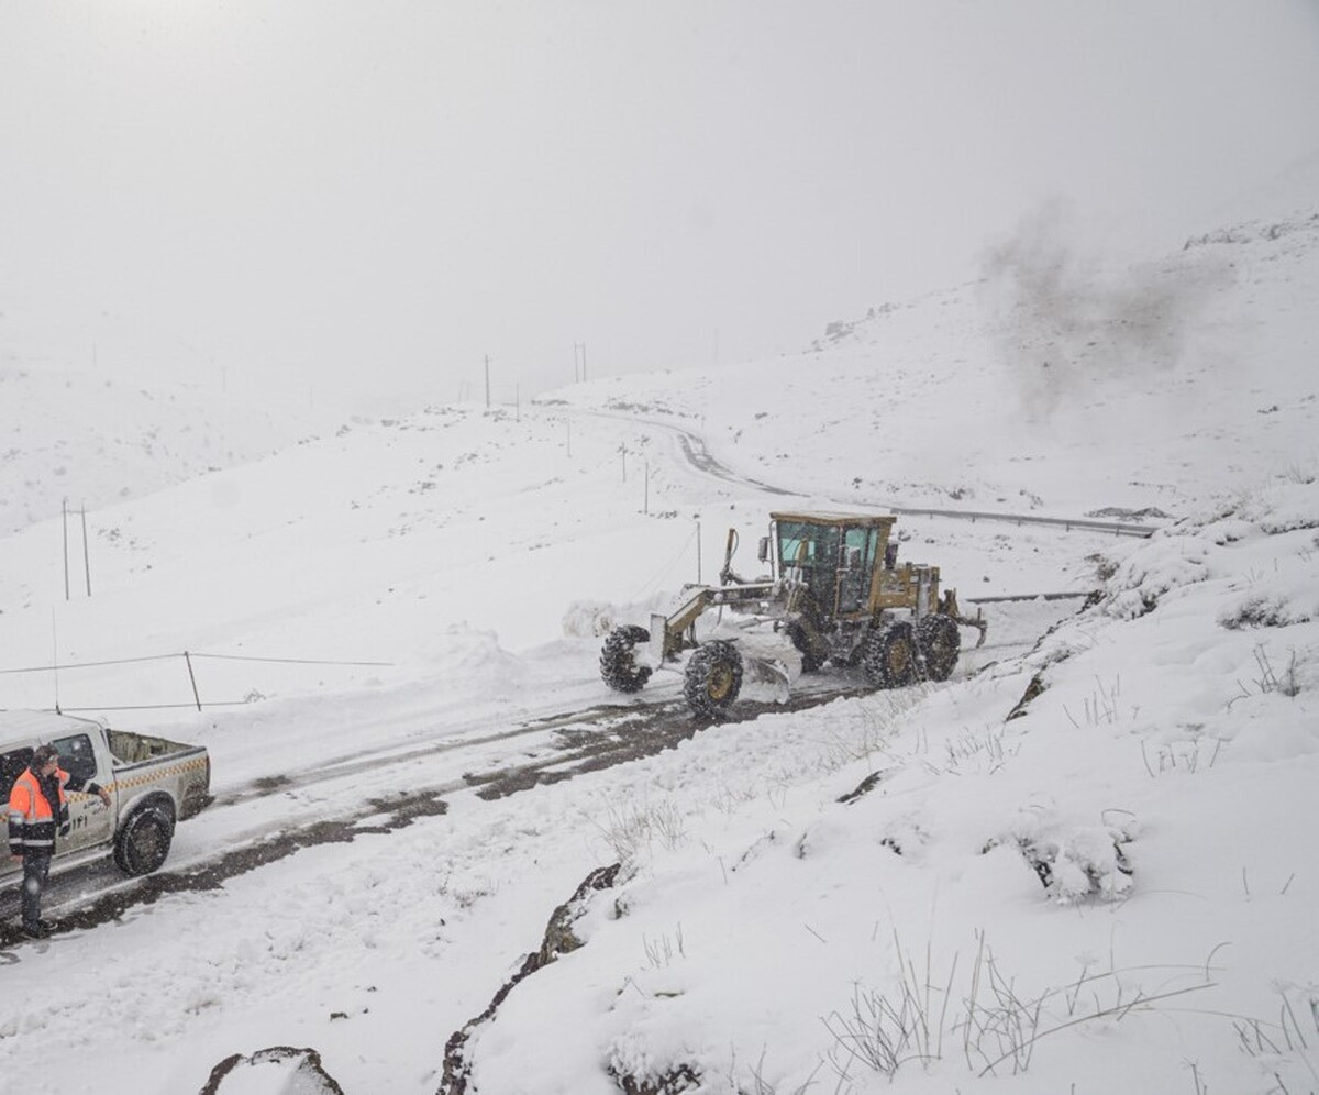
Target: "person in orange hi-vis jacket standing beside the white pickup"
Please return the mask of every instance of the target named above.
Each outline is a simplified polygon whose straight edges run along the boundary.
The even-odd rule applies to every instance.
[[[9,792],[9,855],[22,861],[22,934],[41,939],[50,925],[41,918],[41,891],[50,873],[55,834],[69,835],[69,802],[65,789],[100,796],[109,805],[109,792],[91,780],[70,776],[59,766],[54,745],[38,745]]]

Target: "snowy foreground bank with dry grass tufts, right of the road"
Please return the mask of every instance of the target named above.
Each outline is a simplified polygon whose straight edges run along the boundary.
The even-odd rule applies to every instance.
[[[1026,657],[648,761],[467,1090],[1312,1090],[1316,529],[1278,482]]]

